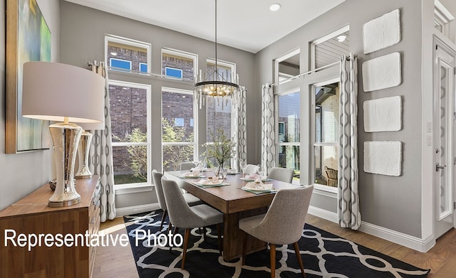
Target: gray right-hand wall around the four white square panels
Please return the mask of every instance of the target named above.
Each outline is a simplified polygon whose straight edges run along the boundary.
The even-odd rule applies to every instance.
[[[363,54],[363,24],[373,18],[400,9],[402,40],[395,46]],[[319,16],[280,41],[257,53],[255,57],[255,94],[261,84],[273,80],[274,59],[301,48],[301,72],[309,68],[309,42],[350,25],[350,50],[358,54],[358,165],[361,216],[363,221],[380,227],[421,236],[421,3],[410,0],[347,0]],[[388,53],[402,54],[403,83],[398,87],[363,92],[361,65]],[[304,82],[304,81],[303,81]],[[403,130],[366,133],[363,131],[363,102],[380,97],[403,96]],[[261,108],[261,107],[260,107]],[[363,171],[364,141],[403,141],[403,173],[399,177],[375,175]],[[318,197],[313,205],[336,208],[333,198]],[[319,203],[319,204],[318,204]],[[333,210],[336,213],[335,210]]]

